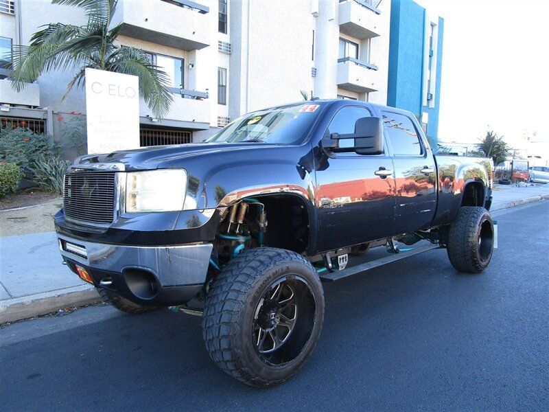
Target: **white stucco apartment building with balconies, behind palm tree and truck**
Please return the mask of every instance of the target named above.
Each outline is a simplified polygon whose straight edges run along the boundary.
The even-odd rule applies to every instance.
[[[248,111],[302,100],[301,91],[385,104],[390,9],[390,0],[119,0],[117,41],[150,53],[174,96],[163,119],[141,101],[141,144],[202,141]],[[4,126],[58,135],[56,119],[85,115],[83,89],[62,100],[73,73],[44,74],[19,93],[5,80],[12,46],[56,22],[86,18],[48,0],[0,0]]]

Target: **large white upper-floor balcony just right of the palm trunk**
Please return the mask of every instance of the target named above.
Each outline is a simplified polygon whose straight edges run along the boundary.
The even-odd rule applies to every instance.
[[[113,24],[120,34],[183,50],[209,46],[209,8],[189,0],[122,0]]]

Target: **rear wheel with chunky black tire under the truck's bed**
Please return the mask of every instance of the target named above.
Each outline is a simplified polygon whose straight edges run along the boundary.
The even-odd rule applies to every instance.
[[[484,207],[460,207],[448,231],[447,252],[452,266],[460,272],[480,273],[493,253],[493,222]]]

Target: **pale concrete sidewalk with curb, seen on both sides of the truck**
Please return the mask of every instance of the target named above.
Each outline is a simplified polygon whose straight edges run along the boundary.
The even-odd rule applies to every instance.
[[[549,184],[495,185],[491,210],[542,198],[549,199]],[[54,232],[0,237],[0,324],[99,301],[93,286],[61,262]]]

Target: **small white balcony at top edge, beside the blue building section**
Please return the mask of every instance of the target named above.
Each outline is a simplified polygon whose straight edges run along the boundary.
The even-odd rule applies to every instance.
[[[381,12],[369,0],[340,0],[340,32],[354,38],[379,36],[382,26]]]

